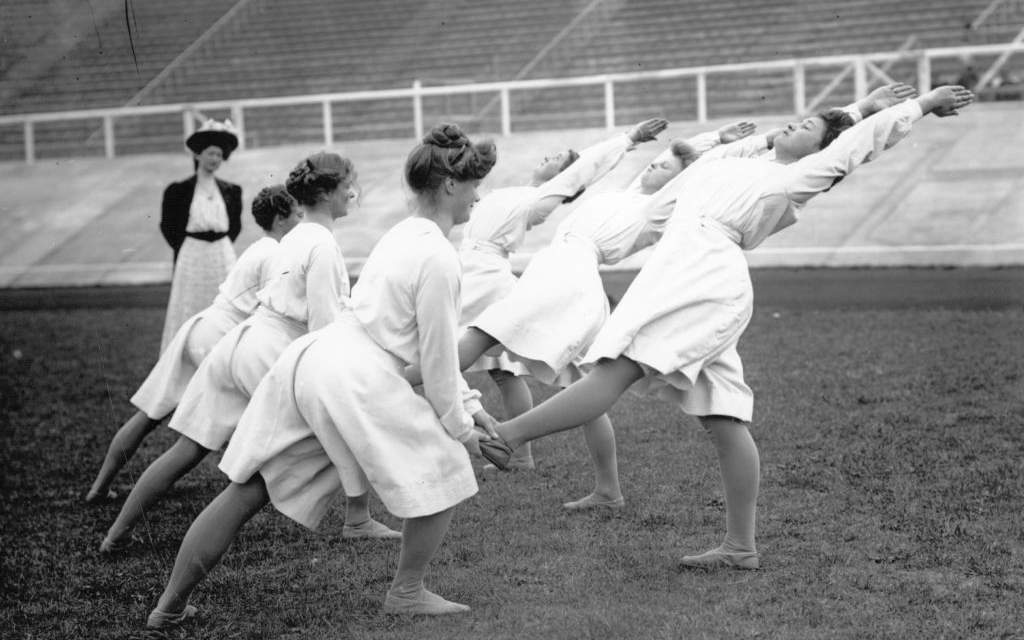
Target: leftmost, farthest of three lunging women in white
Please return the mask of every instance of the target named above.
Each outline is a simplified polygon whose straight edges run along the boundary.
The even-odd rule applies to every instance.
[[[138,411],[111,440],[99,473],[86,494],[87,503],[117,497],[110,486],[118,471],[127,464],[145,436],[178,406],[185,386],[213,345],[256,310],[259,304],[256,292],[269,280],[278,243],[302,219],[297,206],[284,184],[267,186],[256,195],[253,218],[263,229],[263,238],[239,256],[220,284],[213,304],[188,318],[161,352],[142,386],[131,397],[131,403]]]

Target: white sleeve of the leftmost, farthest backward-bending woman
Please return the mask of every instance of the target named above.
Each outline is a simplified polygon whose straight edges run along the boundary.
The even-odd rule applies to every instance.
[[[633,140],[623,133],[580,152],[575,162],[538,187],[537,195],[520,210],[526,228],[543,223],[566,198],[604,177],[634,146]]]

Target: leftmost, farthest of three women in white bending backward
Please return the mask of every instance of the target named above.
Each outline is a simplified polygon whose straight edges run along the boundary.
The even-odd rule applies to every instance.
[[[570,202],[618,164],[639,141],[660,133],[668,121],[653,118],[638,123],[626,135],[616,135],[577,154],[563,150],[546,157],[534,169],[530,183],[497,188],[480,199],[463,229],[459,258],[462,262],[463,329],[485,308],[501,300],[515,285],[509,255],[522,245],[526,231],[542,224],[561,204]],[[501,391],[508,418],[534,406],[522,379],[525,367],[498,350],[484,353],[468,371],[485,371]],[[532,469],[529,445],[516,451],[511,469]]]

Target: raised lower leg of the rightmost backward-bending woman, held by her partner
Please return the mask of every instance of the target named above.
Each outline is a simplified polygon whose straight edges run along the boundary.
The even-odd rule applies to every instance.
[[[502,423],[498,434],[513,450],[529,440],[596,420],[615,403],[643,370],[628,357],[604,359],[582,380],[525,414]]]

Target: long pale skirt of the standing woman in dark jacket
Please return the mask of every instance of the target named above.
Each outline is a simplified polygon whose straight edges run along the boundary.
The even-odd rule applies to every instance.
[[[227,238],[212,243],[185,238],[171,276],[171,295],[160,339],[161,353],[185,321],[213,304],[220,283],[227,278],[234,259],[234,248]]]

